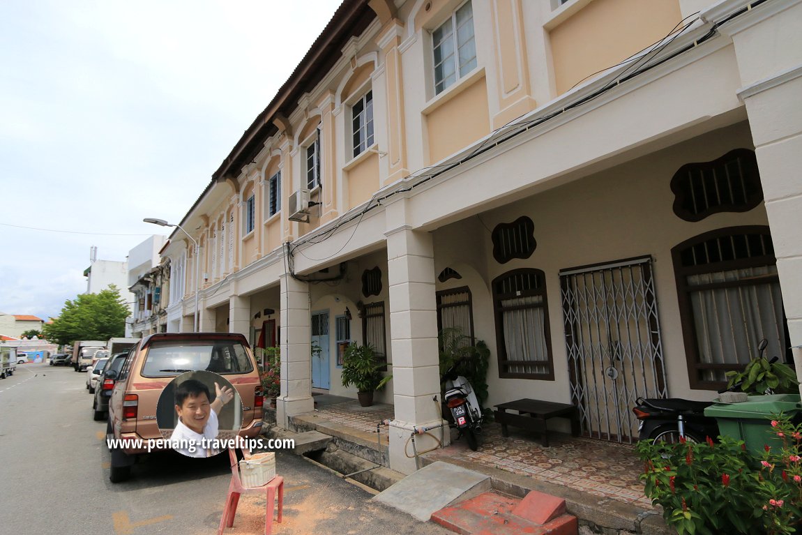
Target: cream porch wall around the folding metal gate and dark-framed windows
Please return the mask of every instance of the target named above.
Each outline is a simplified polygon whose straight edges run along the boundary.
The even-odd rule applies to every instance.
[[[714,392],[695,391],[689,387],[683,334],[679,323],[677,291],[670,249],[679,242],[711,229],[731,225],[767,225],[764,206],[748,213],[718,213],[698,223],[682,221],[672,211],[674,196],[670,179],[683,164],[715,160],[732,148],[751,148],[751,135],[745,124],[723,128],[643,156],[637,160],[599,172],[540,195],[528,197],[481,217],[488,229],[514,221],[521,215],[535,224],[537,249],[526,260],[512,260],[499,265],[492,254],[486,257],[486,274],[472,274],[475,255],[466,243],[484,238],[484,251],[492,250],[490,233],[476,224],[476,217],[435,231],[437,270],[444,264],[465,257],[463,274],[474,299],[476,335],[491,347],[493,356],[488,372],[490,403],[522,397],[570,401],[569,377],[565,353],[565,333],[561,306],[559,270],[622,258],[651,255],[657,291],[662,347],[666,358],[669,395],[691,399],[711,399]],[[462,238],[460,239],[460,236]],[[546,275],[551,346],[555,380],[499,379],[496,360],[496,335],[492,315],[493,278],[509,270],[534,267]],[[466,276],[467,275],[467,276]],[[448,281],[463,286],[462,281]],[[453,287],[452,286],[452,287]],[[439,288],[440,286],[438,286]],[[537,393],[537,395],[533,395]]]

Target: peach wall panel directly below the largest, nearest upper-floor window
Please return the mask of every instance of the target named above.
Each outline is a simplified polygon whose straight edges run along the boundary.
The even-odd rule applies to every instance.
[[[431,111],[426,124],[430,164],[490,133],[488,88],[484,78]]]

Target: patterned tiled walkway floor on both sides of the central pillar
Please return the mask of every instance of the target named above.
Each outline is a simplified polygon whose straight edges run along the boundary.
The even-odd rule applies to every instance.
[[[318,414],[363,432],[375,432],[379,421],[393,417],[392,405],[376,403],[372,407],[359,407],[355,400],[334,399],[334,402],[319,403]],[[434,456],[441,460],[448,460],[449,456],[463,460],[468,457],[491,468],[652,509],[638,480],[642,464],[633,445],[549,433],[550,447],[543,448],[533,433],[510,427],[509,435],[501,436],[499,424],[488,424],[478,451],[472,452],[465,447],[464,440],[458,440]]]

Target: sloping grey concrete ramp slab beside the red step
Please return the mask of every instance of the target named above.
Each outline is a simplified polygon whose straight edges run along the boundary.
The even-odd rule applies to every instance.
[[[441,461],[429,464],[373,497],[426,522],[431,513],[488,492],[488,476]]]

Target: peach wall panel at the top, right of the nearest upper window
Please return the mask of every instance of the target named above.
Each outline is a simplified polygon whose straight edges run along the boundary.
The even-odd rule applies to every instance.
[[[662,39],[682,18],[678,0],[590,2],[549,34],[557,95]]]

